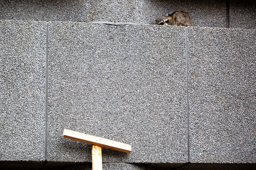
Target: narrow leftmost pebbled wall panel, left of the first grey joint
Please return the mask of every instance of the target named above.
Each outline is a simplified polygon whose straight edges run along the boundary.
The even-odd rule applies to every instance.
[[[45,22],[0,20],[0,160],[44,160]]]

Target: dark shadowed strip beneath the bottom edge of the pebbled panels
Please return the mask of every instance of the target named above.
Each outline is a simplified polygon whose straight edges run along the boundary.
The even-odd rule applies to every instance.
[[[1,169],[11,170],[91,170],[91,163],[71,162],[35,162],[35,161],[0,161]],[[186,164],[127,164],[103,163],[103,170],[254,170],[255,163],[186,163]]]

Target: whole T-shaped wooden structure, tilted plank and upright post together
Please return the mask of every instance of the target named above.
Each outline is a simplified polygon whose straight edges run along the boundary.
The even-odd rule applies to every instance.
[[[102,170],[102,153],[101,147],[119,150],[125,153],[132,152],[132,146],[116,142],[114,140],[108,140],[102,137],[92,136],[85,133],[80,133],[68,129],[64,129],[63,137],[80,142],[91,144],[91,157],[92,157],[92,170]]]

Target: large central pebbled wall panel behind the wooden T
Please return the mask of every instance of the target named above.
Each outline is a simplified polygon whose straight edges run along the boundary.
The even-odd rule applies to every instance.
[[[49,161],[91,161],[75,130],[132,145],[103,162],[186,162],[185,27],[49,23]]]

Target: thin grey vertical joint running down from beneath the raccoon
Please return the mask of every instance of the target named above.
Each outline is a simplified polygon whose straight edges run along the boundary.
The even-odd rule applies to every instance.
[[[190,162],[190,153],[189,153],[189,75],[188,75],[188,37],[187,37],[187,27],[185,27],[185,40],[186,40],[186,93],[187,93],[187,149],[188,149],[188,162]]]

